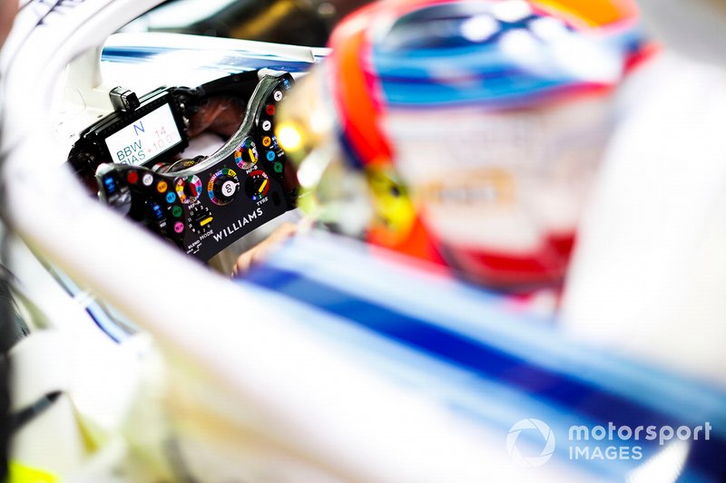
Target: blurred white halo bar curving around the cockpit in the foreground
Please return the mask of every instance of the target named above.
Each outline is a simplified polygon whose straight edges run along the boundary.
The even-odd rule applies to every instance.
[[[3,59],[2,177],[15,231],[34,253],[151,333],[174,362],[169,370],[207,390],[198,407],[206,404],[207,415],[221,417],[232,440],[250,437],[248,449],[266,441],[263,447],[275,449],[267,469],[298,469],[287,479],[306,468],[331,480],[525,478],[525,469],[518,473],[495,456],[501,441],[348,363],[256,294],[94,203],[62,169],[67,146],[48,111],[65,66],[158,3],[56,2],[42,15],[35,12],[43,2],[25,6]],[[63,318],[50,323],[69,330]],[[84,337],[79,327],[71,330],[71,339]],[[89,365],[103,366],[103,354],[95,356]],[[195,416],[206,420],[203,413],[186,414]],[[214,480],[213,471],[207,476]],[[264,473],[253,476],[264,479]]]

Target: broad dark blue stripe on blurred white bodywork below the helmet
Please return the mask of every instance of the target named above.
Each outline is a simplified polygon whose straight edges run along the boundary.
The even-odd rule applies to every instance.
[[[647,398],[628,396],[632,391],[612,391],[612,388],[606,388],[598,382],[556,371],[507,351],[498,346],[497,341],[487,339],[486,336],[472,337],[438,324],[435,320],[428,320],[427,317],[405,314],[384,304],[351,296],[340,288],[342,285],[339,281],[336,286],[332,286],[332,281],[330,284],[321,283],[306,277],[304,271],[302,273],[300,275],[277,266],[265,266],[253,272],[248,281],[309,304],[326,314],[345,320],[351,326],[376,333],[390,343],[400,344],[437,362],[450,364],[458,371],[471,374],[475,378],[472,382],[486,382],[490,388],[494,384],[506,391],[519,393],[523,410],[526,408],[527,411],[533,411],[533,403],[536,402],[550,411],[547,416],[549,422],[553,421],[554,414],[560,414],[560,433],[569,425],[585,422],[591,428],[595,424],[606,425],[611,421],[618,427],[626,425],[635,428],[649,425],[678,427],[681,424],[695,425],[698,421],[702,423],[709,420],[714,427],[711,440],[692,441],[688,478],[717,480],[718,475],[726,469],[719,462],[719,455],[726,451],[726,440],[722,432],[724,427],[720,424],[726,416],[726,399],[718,391],[711,391],[708,397],[691,399],[689,404],[676,405],[671,408],[672,411],[661,411],[661,408],[649,404]],[[525,347],[528,344],[525,338],[522,343]],[[567,348],[565,346],[562,349],[566,351]],[[602,357],[602,354],[595,352],[580,353],[581,356],[582,354],[589,354],[586,357],[595,360]],[[584,363],[584,368],[587,366]],[[633,366],[633,369],[637,369],[637,366]],[[574,371],[577,371],[577,367],[574,367]],[[655,372],[652,375],[661,379],[668,377]],[[613,378],[617,377],[618,373],[614,372]],[[660,397],[681,401],[678,391],[683,391],[684,386],[679,382],[680,380],[662,383],[659,386],[662,392]],[[611,381],[610,385],[612,384]],[[701,388],[700,391],[707,390]],[[483,392],[479,394],[480,397],[485,397]],[[539,411],[543,411],[542,408]],[[477,411],[481,416],[481,411],[486,412],[487,409],[479,408]],[[702,420],[694,419],[701,417]],[[618,444],[640,445],[646,455],[662,449],[657,442],[648,440],[618,441]],[[562,453],[562,449],[558,451]],[[566,455],[559,454],[559,457],[565,458]],[[618,477],[624,474],[623,471],[633,469],[642,461],[586,463],[601,474],[607,472],[612,477]]]

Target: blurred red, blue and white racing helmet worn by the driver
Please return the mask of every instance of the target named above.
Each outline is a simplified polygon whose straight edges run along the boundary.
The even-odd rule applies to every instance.
[[[634,5],[384,1],[330,47],[280,109],[299,206],[486,286],[559,284],[613,92],[649,52]]]

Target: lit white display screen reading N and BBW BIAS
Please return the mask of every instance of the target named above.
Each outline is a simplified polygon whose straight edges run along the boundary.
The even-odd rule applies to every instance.
[[[149,112],[106,138],[113,162],[137,166],[182,142],[169,104]]]

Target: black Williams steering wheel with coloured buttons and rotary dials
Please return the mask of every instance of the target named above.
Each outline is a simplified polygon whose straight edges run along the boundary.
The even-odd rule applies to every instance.
[[[293,82],[287,72],[241,72],[141,98],[113,89],[115,111],[83,130],[68,162],[105,203],[206,262],[295,208],[295,176],[274,131]],[[247,100],[239,128],[211,155],[178,159],[214,99]]]

